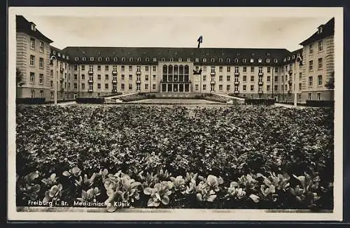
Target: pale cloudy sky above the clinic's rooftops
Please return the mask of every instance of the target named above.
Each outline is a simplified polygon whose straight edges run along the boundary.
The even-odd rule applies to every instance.
[[[300,42],[314,34],[329,15],[254,16],[228,13],[138,13],[36,15],[22,13],[48,36],[56,48],[67,46],[197,47],[202,48],[302,48]]]

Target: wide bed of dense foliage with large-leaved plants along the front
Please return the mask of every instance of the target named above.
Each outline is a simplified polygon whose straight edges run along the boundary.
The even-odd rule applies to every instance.
[[[16,120],[18,206],[332,209],[330,108],[18,106]]]

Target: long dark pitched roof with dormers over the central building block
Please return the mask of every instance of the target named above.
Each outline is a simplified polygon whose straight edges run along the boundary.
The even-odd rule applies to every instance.
[[[198,58],[198,62],[195,64],[213,63],[213,64],[234,64],[235,59],[238,59],[239,63],[244,64],[242,59],[246,59],[246,64],[251,64],[250,59],[254,59],[254,64],[258,64],[258,59],[262,59],[262,63],[267,64],[265,59],[270,59],[270,63],[273,64],[273,59],[281,59],[288,55],[290,52],[286,49],[274,49],[274,48],[130,48],[130,47],[66,47],[63,49],[66,55],[69,55],[71,59],[78,57],[77,63],[81,63],[82,57],[86,57],[86,62],[90,61],[90,57],[97,59],[102,57],[102,62],[109,57],[111,61],[114,57],[117,57],[117,63],[122,62],[124,64],[132,64],[137,62],[140,58],[140,63],[145,62],[146,57],[149,58],[149,62],[153,62],[153,58],[157,58],[156,62],[161,59],[169,62],[170,59],[174,59],[176,62],[179,58],[186,61],[190,58],[195,62],[195,58]],[[95,60],[94,60],[95,61]],[[114,62],[114,61],[113,61]],[[149,64],[149,63],[148,63]]]

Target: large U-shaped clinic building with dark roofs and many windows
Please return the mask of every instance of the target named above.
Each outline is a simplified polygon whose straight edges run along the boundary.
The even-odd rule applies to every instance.
[[[232,94],[278,101],[332,100],[334,17],[290,52],[272,48],[126,48],[50,45],[16,16],[18,97],[54,100],[118,92]],[[201,71],[196,74],[194,71]],[[296,93],[296,96],[295,96]]]

